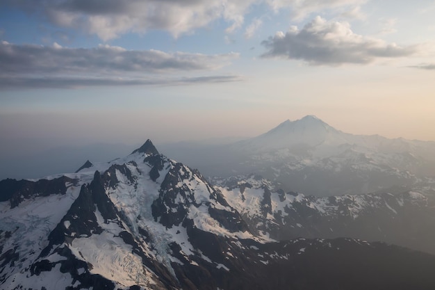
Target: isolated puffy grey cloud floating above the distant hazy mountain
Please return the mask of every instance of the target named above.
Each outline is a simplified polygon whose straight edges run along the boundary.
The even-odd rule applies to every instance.
[[[347,22],[328,22],[315,17],[302,29],[292,26],[262,42],[263,58],[303,60],[311,65],[367,64],[379,58],[398,58],[419,52],[418,46],[400,47],[378,38],[354,33]]]

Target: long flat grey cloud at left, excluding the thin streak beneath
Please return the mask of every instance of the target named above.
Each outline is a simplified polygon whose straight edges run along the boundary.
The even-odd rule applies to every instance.
[[[167,54],[158,50],[126,50],[100,45],[93,49],[41,45],[0,44],[0,71],[14,73],[82,73],[113,74],[122,72],[163,72],[215,70],[228,65],[238,54]]]

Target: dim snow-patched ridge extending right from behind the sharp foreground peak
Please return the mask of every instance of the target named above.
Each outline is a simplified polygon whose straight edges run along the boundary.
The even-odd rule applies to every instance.
[[[347,236],[435,254],[434,202],[416,191],[320,198],[286,193],[255,176],[213,182],[258,236],[277,241]]]

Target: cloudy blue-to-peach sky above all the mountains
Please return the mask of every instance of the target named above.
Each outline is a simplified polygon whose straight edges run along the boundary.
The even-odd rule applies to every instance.
[[[0,157],[304,115],[435,140],[434,16],[426,0],[2,0]]]

